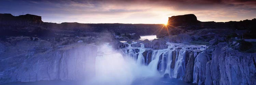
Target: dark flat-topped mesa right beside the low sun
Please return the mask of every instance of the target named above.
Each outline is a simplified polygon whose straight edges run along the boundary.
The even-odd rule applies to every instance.
[[[182,24],[196,24],[200,21],[197,20],[197,17],[194,14],[178,15],[172,16],[168,19],[168,24],[177,27]]]

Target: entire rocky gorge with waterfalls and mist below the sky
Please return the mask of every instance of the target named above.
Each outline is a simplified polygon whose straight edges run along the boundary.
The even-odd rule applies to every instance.
[[[188,14],[162,28],[0,14],[0,84],[255,85],[254,22]]]

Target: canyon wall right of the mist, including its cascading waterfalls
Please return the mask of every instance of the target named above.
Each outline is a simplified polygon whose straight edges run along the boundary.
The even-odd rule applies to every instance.
[[[256,53],[239,52],[226,43],[213,45],[211,49],[206,46],[175,43],[168,44],[165,49],[154,49],[151,47],[154,46],[153,43],[145,45],[148,44],[146,42],[147,40],[119,49],[122,49],[124,56],[132,57],[137,62],[153,68],[152,70],[157,70],[164,77],[198,85],[256,83]],[[139,49],[128,46],[136,46]]]

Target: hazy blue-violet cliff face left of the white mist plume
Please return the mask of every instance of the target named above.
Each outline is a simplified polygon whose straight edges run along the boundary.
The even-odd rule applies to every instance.
[[[84,80],[95,75],[96,55],[96,46],[74,45],[6,58],[0,61],[0,83]]]

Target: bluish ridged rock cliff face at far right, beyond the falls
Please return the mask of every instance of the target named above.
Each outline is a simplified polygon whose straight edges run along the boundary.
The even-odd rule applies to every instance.
[[[255,85],[256,54],[223,47],[219,55],[220,85]]]

